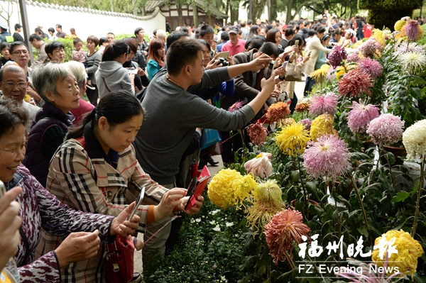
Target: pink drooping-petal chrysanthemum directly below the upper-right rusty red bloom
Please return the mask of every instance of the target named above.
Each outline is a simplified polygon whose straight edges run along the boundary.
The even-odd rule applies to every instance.
[[[361,99],[359,103],[352,101],[351,109],[348,113],[348,126],[352,133],[365,133],[368,123],[378,117],[378,108],[373,104],[365,105]]]

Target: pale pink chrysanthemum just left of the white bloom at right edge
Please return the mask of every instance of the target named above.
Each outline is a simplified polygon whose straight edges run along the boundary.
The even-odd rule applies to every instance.
[[[371,120],[367,133],[371,135],[374,143],[388,145],[400,140],[403,135],[403,126],[404,121],[401,121],[399,116],[386,113]]]

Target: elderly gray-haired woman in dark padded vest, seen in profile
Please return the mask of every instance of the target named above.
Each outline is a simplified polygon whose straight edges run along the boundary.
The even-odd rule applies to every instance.
[[[33,120],[23,164],[45,186],[53,154],[62,144],[80,106],[80,89],[66,65],[48,63],[33,70],[33,85],[45,104]]]

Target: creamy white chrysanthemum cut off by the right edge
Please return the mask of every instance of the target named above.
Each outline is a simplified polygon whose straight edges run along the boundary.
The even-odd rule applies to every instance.
[[[417,121],[403,133],[403,144],[407,157],[411,159],[426,156],[426,120]]]

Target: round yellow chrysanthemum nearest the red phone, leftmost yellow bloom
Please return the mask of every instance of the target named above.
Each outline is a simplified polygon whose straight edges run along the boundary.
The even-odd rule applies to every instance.
[[[212,181],[209,182],[207,194],[210,201],[223,210],[234,206],[234,188],[232,184],[234,180],[241,178],[241,174],[236,172],[236,170],[222,169],[217,172],[212,178]]]

